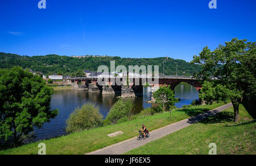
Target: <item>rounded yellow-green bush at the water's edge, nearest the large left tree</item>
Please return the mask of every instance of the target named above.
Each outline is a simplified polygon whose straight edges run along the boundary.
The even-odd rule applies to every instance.
[[[99,110],[93,103],[77,108],[67,119],[66,131],[70,133],[101,126],[103,117]]]

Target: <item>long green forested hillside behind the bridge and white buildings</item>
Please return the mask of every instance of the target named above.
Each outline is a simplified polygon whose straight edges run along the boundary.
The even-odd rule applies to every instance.
[[[157,58],[143,58],[143,59],[130,59],[121,57],[70,57],[59,55],[46,55],[46,56],[19,56],[11,53],[0,52],[0,68],[12,68],[19,65],[22,68],[29,68],[36,72],[43,72],[44,74],[62,73],[71,74],[78,70],[91,70],[97,71],[98,66],[107,65],[110,69],[110,61],[115,61],[115,67],[118,65],[159,65],[159,73],[168,75],[191,75],[199,72],[199,65],[192,65],[184,60],[175,60],[166,57]],[[128,69],[128,68],[127,68]]]

